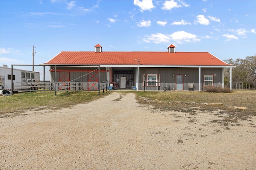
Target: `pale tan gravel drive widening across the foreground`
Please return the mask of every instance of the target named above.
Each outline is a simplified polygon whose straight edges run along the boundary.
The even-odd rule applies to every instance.
[[[170,170],[256,167],[256,117],[159,111],[113,92],[68,109],[0,119],[1,170]]]

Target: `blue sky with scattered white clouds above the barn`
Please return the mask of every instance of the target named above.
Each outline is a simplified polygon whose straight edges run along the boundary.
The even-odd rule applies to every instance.
[[[0,65],[60,51],[203,51],[256,55],[256,0],[0,0]],[[24,68],[22,68],[24,69]],[[40,70],[41,72],[41,70]]]

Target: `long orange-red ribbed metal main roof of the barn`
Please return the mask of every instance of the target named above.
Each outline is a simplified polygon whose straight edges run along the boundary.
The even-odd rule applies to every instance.
[[[97,46],[97,45],[96,45]],[[47,65],[233,66],[208,52],[86,52],[62,51]]]

